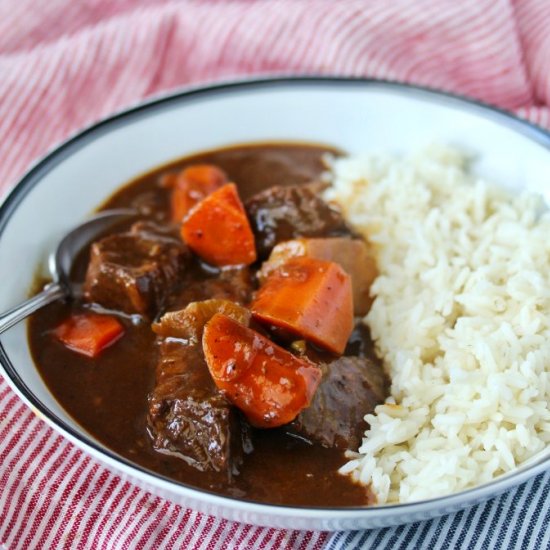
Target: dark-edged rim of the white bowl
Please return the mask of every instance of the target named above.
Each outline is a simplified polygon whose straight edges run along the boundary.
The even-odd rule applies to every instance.
[[[452,92],[436,90],[430,87],[402,83],[393,80],[331,75],[294,75],[222,81],[207,85],[185,87],[166,94],[153,96],[145,101],[140,101],[129,108],[117,111],[114,114],[102,118],[98,122],[73,133],[66,140],[54,146],[44,156],[31,165],[29,170],[19,179],[12,190],[5,196],[2,204],[0,204],[0,239],[13,213],[30,190],[33,189],[34,186],[37,185],[48,172],[55,168],[59,163],[63,162],[68,156],[77,152],[91,141],[100,139],[105,133],[108,133],[119,126],[134,121],[138,118],[152,116],[158,109],[170,108],[172,105],[180,105],[181,103],[188,103],[196,100],[201,101],[204,98],[220,96],[234,91],[285,88],[293,85],[311,86],[313,88],[319,85],[334,87],[358,86],[368,87],[371,89],[379,88],[382,91],[405,96],[412,95],[413,97],[424,100],[428,103],[439,103],[451,108],[454,107],[472,111],[481,118],[493,120],[494,122],[524,135],[527,139],[542,145],[550,153],[550,132],[546,131],[542,127],[539,127],[527,120],[520,119],[514,114],[482,101],[471,99]],[[130,475],[134,475],[138,478],[144,478],[145,481],[151,485],[160,486],[170,491],[176,491],[180,493],[181,496],[187,496],[196,500],[208,499],[212,503],[225,505],[233,509],[249,509],[252,506],[258,512],[269,513],[271,510],[276,515],[287,517],[293,516],[296,512],[299,512],[302,516],[307,516],[310,518],[325,518],[327,513],[330,513],[331,517],[334,518],[368,518],[369,516],[384,517],[392,515],[394,512],[422,512],[435,507],[442,509],[444,507],[461,504],[465,501],[473,501],[478,497],[482,498],[482,496],[487,493],[489,493],[490,496],[496,495],[511,486],[519,485],[538,473],[541,473],[546,469],[546,465],[550,464],[549,455],[538,459],[536,462],[523,469],[518,468],[517,470],[494,478],[485,484],[477,485],[458,493],[451,493],[449,495],[409,503],[361,507],[298,506],[264,503],[255,500],[222,496],[207,489],[200,489],[177,482],[158,474],[157,472],[148,470],[139,464],[135,464],[125,457],[122,457],[110,449],[89,439],[84,433],[73,428],[67,422],[59,418],[55,413],[50,411],[34,395],[11,363],[1,339],[0,374],[4,376],[11,388],[20,398],[22,398],[31,410],[40,418],[45,420],[50,427],[61,433],[65,439],[71,441],[73,444],[76,444],[81,450],[91,454],[94,458],[99,459],[109,467],[112,467],[119,472],[121,469],[123,471],[129,469],[130,471],[126,473],[130,473]],[[52,396],[56,399],[53,394]],[[74,420],[74,422],[75,424],[78,424],[76,420]],[[119,472],[115,472],[116,475],[120,475]]]

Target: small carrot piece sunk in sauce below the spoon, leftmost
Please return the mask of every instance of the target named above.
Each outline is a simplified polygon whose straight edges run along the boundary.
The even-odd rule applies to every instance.
[[[118,319],[97,313],[72,315],[54,331],[69,349],[92,358],[116,342],[123,333],[124,328]]]

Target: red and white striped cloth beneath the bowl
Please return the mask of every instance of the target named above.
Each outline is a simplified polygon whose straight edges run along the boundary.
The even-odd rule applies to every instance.
[[[315,73],[423,84],[550,127],[546,0],[2,0],[0,193],[79,128],[179,86]],[[0,547],[321,548],[151,496],[0,379]]]

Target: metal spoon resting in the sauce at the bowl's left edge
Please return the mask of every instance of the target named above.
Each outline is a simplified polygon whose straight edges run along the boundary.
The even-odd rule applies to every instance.
[[[59,298],[74,296],[76,285],[71,281],[70,274],[78,253],[110,226],[136,214],[135,210],[127,208],[106,210],[65,235],[49,258],[48,265],[52,282],[48,283],[36,296],[0,314],[0,334],[37,309]]]

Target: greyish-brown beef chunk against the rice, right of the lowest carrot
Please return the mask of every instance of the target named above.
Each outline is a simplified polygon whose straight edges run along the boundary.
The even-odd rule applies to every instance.
[[[360,357],[340,357],[321,369],[311,405],[289,431],[324,447],[356,450],[367,428],[364,416],[388,396],[387,378],[381,366]]]

